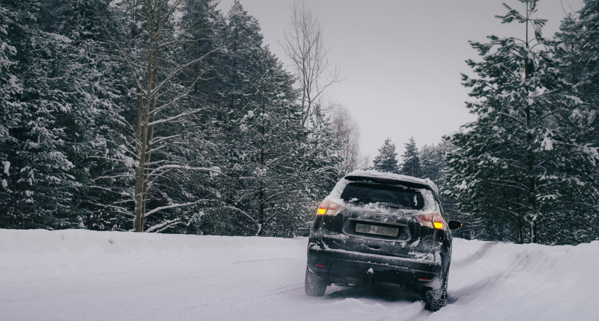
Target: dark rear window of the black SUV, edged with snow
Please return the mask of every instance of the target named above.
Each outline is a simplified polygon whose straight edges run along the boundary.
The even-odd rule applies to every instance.
[[[413,210],[424,208],[421,190],[398,185],[349,183],[345,186],[341,198],[347,203],[379,203]]]

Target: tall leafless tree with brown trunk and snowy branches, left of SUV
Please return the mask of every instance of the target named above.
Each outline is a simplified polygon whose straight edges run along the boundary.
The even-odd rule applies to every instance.
[[[132,195],[133,213],[130,215],[135,220],[136,232],[143,232],[145,218],[149,215],[197,203],[181,203],[162,195],[165,204],[148,208],[148,195],[158,180],[178,170],[218,172],[215,168],[195,167],[168,157],[153,158],[153,155],[168,149],[173,141],[180,137],[180,133],[160,131],[160,128],[168,128],[170,124],[178,123],[208,108],[189,108],[188,104],[182,103],[202,77],[201,73],[196,75],[195,80],[188,86],[180,86],[174,81],[186,68],[201,63],[206,56],[214,52],[210,51],[185,63],[180,63],[173,54],[185,39],[180,37],[180,34],[187,32],[174,18],[175,13],[184,4],[186,2],[183,0],[123,1],[120,9],[128,17],[130,39],[124,41],[124,34],[110,34],[113,51],[127,66],[129,79],[133,83],[129,94],[135,97],[135,113],[131,123],[133,143],[122,147],[133,167],[135,188]]]

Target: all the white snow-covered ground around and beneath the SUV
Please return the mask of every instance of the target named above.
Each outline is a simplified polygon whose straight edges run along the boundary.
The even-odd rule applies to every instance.
[[[449,305],[304,294],[306,238],[0,230],[0,320],[599,320],[599,241],[454,239]]]

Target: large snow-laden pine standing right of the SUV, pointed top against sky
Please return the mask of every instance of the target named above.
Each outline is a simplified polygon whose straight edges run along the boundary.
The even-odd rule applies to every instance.
[[[519,1],[525,13],[504,4],[508,14],[498,18],[525,24],[522,41],[489,36],[487,44],[471,43],[481,61],[467,63],[478,76],[463,80],[477,98],[467,107],[478,119],[449,138],[457,148],[447,161],[450,195],[459,210],[483,218],[488,238],[588,240],[581,222],[596,220],[588,205],[597,192],[588,147],[575,141],[572,126],[579,99],[553,58],[557,45],[541,36],[545,20],[531,18],[537,1]]]

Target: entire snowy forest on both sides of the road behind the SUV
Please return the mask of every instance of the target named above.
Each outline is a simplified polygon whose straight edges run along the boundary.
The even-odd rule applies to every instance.
[[[599,1],[543,37],[542,1],[472,41],[477,116],[420,150],[390,139],[373,169],[430,178],[455,235],[550,245],[599,232]],[[503,15],[501,15],[503,14]],[[239,1],[4,0],[0,228],[305,235],[339,178],[368,168],[322,27],[292,7],[282,46]]]

